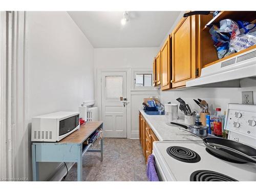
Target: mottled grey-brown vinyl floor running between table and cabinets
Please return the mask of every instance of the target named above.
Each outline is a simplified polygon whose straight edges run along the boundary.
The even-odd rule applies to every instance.
[[[98,141],[92,148],[100,148]],[[100,153],[83,156],[83,181],[147,181],[146,164],[138,139],[104,138],[103,161]],[[77,164],[64,181],[77,181]]]

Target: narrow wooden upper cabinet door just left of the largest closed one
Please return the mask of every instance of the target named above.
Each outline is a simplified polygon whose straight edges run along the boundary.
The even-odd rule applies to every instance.
[[[170,83],[170,35],[168,35],[164,45],[160,51],[161,56],[161,89],[171,88]]]

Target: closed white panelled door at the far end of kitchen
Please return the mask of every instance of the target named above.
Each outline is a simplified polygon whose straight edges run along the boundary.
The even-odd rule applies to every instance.
[[[102,120],[104,137],[126,138],[127,77],[126,72],[102,72]],[[120,99],[120,97],[123,98]]]

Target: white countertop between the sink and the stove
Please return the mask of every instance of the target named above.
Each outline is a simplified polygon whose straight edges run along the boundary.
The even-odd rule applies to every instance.
[[[165,115],[147,115],[143,110],[139,110],[159,141],[202,141],[189,133],[179,130],[183,129],[177,125],[167,125]],[[178,119],[178,123],[184,124],[184,119]]]

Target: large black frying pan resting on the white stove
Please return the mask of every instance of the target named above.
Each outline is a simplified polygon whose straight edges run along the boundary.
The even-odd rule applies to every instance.
[[[191,133],[190,131],[182,129],[179,130],[201,138],[198,135]],[[208,148],[208,150],[218,156],[240,163],[256,163],[256,159],[254,158],[256,156],[255,148],[239,143],[237,141],[232,141],[220,137],[203,137],[201,139],[203,140],[203,143]]]

